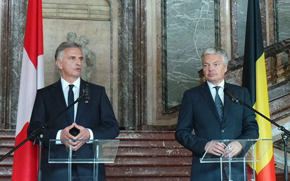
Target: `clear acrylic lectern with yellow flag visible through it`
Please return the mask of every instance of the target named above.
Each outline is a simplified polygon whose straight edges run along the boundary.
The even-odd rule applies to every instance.
[[[216,156],[208,153],[208,150],[213,145],[213,142],[220,142],[230,151],[231,142],[239,142],[242,145],[242,150],[236,155],[231,156]],[[259,161],[265,152],[271,147],[274,139],[248,139],[248,140],[213,140],[204,153],[203,157],[200,158],[201,163],[219,163],[220,164],[220,180],[222,177],[227,177],[228,181],[247,181],[247,177],[251,178],[251,181],[255,180],[254,169],[251,173],[247,173],[247,164],[254,168],[255,162]],[[233,165],[235,166],[233,168]],[[237,170],[237,172],[235,172]],[[241,174],[242,173],[242,174]]]

